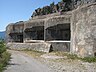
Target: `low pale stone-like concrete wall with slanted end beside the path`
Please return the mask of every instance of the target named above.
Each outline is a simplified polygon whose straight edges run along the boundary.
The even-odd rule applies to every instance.
[[[7,43],[9,49],[14,50],[35,50],[49,52],[51,44],[49,43]]]

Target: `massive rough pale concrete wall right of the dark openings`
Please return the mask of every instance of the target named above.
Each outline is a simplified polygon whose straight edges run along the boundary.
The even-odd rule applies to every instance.
[[[96,3],[73,11],[71,52],[78,56],[94,56],[96,52]]]

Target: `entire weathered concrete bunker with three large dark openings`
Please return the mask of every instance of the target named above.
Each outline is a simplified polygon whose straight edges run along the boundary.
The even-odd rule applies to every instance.
[[[43,52],[49,52],[51,48],[80,57],[96,56],[96,3],[80,6],[62,15],[33,17],[24,22],[24,29],[20,23],[23,22],[6,28],[7,42],[17,42],[9,44],[10,48],[25,47]]]

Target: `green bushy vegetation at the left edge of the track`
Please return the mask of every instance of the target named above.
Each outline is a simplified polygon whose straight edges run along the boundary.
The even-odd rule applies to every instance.
[[[6,46],[4,43],[0,41],[0,72],[4,70],[4,67],[7,65],[10,56],[10,53],[6,51]]]

